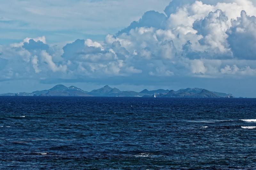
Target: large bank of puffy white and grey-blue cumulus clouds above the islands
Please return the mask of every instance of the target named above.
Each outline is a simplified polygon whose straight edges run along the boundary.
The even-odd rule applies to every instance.
[[[256,2],[172,0],[105,41],[47,37],[0,45],[0,81],[141,85],[179,78],[255,78]],[[3,21],[3,18],[2,20]]]

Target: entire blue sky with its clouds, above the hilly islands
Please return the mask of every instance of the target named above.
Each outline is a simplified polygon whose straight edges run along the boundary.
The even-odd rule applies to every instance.
[[[0,93],[54,85],[256,98],[256,0],[11,0]]]

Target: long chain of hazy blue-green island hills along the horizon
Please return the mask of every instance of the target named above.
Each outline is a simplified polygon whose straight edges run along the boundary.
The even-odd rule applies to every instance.
[[[104,97],[187,97],[187,98],[234,98],[232,94],[226,94],[221,92],[211,92],[200,88],[186,88],[178,91],[174,90],[152,90],[147,89],[141,92],[134,91],[120,91],[117,88],[111,88],[108,85],[91,92],[86,92],[78,87],[65,85],[55,85],[49,90],[35,91],[32,93],[20,92],[20,93],[5,93],[0,96],[104,96]]]

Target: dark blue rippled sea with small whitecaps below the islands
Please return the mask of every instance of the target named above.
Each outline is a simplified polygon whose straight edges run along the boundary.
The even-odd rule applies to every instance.
[[[256,169],[256,99],[0,96],[0,169]]]

